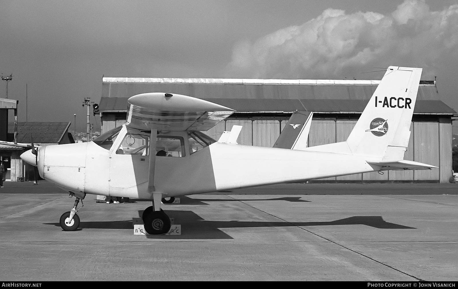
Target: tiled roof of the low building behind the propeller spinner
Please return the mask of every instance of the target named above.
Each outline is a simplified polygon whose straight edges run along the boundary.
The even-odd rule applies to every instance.
[[[58,144],[64,137],[70,122],[27,122],[17,123],[17,142],[31,143],[31,136],[34,143]],[[8,123],[8,133],[14,134],[14,123]]]

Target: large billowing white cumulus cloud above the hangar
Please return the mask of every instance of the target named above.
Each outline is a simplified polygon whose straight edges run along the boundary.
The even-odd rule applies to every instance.
[[[391,15],[327,9],[315,19],[234,45],[226,77],[358,78],[375,67],[423,67],[425,79],[440,63],[458,65],[458,5],[430,11],[405,0]],[[449,59],[447,59],[449,58]]]

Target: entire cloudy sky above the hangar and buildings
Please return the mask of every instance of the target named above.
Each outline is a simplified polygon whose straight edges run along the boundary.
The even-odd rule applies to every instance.
[[[458,111],[458,0],[15,0],[2,2],[0,27],[0,73],[14,75],[19,121],[26,84],[28,121],[73,128],[76,113],[85,131],[83,98],[99,102],[102,75],[380,79],[361,72],[389,65],[437,76]]]

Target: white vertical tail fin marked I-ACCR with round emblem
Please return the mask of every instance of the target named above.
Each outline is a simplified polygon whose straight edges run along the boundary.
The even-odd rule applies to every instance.
[[[421,68],[390,66],[351,131],[352,154],[403,159]]]

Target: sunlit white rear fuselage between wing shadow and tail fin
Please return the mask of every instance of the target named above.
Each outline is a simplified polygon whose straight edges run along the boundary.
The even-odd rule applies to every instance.
[[[374,171],[359,155],[222,143],[210,151],[218,191]]]

